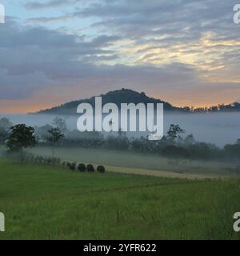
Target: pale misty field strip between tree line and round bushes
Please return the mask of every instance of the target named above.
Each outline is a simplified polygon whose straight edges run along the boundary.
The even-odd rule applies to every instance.
[[[34,154],[51,156],[50,147],[30,149]],[[137,154],[116,150],[98,150],[79,147],[58,147],[57,157],[65,161],[76,161],[110,166],[110,170],[122,173],[150,174],[171,178],[240,178],[239,166],[224,162],[179,160],[171,162],[154,154]]]

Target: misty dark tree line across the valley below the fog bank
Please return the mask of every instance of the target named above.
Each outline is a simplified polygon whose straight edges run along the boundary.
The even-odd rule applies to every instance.
[[[171,124],[166,136],[159,141],[150,141],[147,137],[128,138],[121,130],[118,135],[104,137],[99,132],[67,130],[62,118],[54,118],[51,125],[31,127],[25,124],[13,126],[7,118],[0,119],[0,142],[6,145],[9,152],[18,152],[23,161],[23,150],[27,147],[51,146],[52,158],[56,146],[81,146],[86,148],[104,148],[109,150],[130,150],[142,154],[159,154],[170,158],[190,159],[231,159],[238,161],[240,157],[240,139],[220,149],[211,143],[198,142],[193,134],[178,124]]]

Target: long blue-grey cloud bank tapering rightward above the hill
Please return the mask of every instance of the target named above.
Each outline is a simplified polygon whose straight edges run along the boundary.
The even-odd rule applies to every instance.
[[[7,22],[0,32],[0,58],[4,60],[0,62],[2,99],[28,98],[39,90],[70,88],[87,81],[98,82],[99,87],[145,87],[148,82],[163,88],[179,81],[195,81],[198,76],[191,66],[181,63],[162,67],[107,65],[107,61],[119,58],[118,52],[104,49],[121,39],[114,35],[89,41],[84,36],[41,26],[19,26],[16,22]]]

